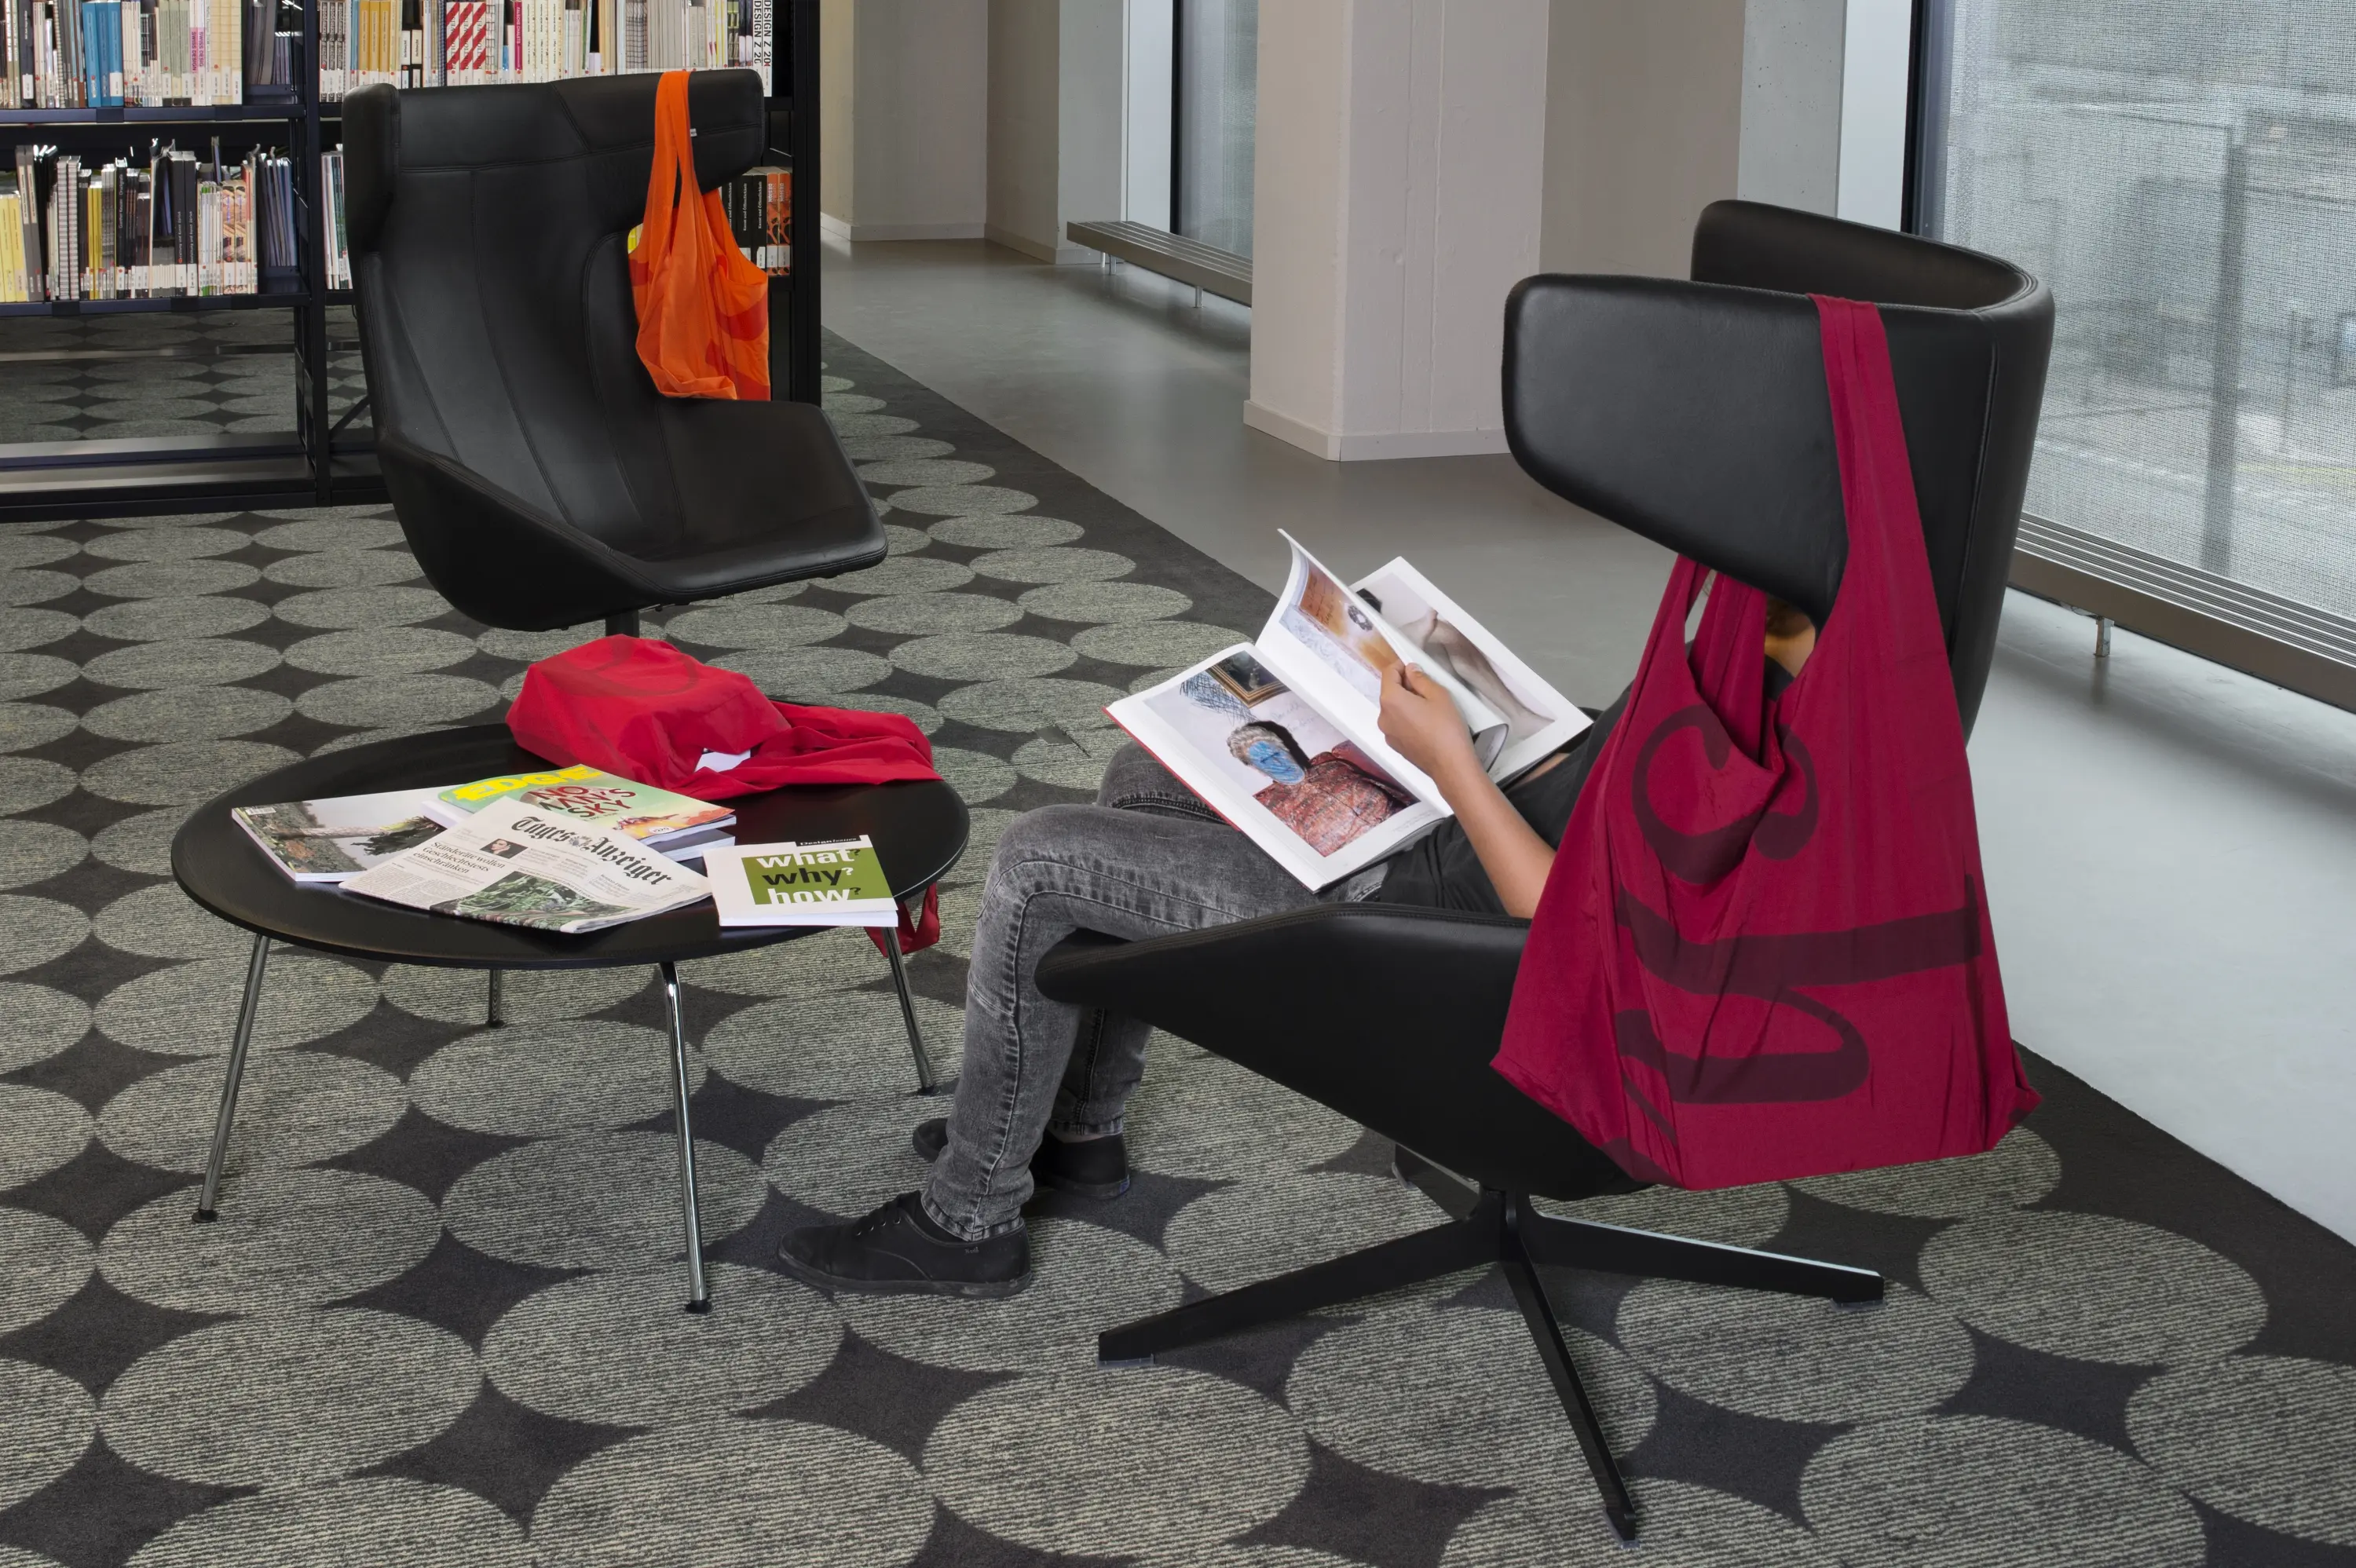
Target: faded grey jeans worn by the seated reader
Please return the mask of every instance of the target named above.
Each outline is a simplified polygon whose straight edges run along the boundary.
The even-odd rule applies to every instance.
[[[926,1212],[966,1241],[1020,1229],[1044,1132],[1121,1130],[1152,1031],[1041,996],[1032,975],[1051,946],[1074,930],[1166,937],[1376,885],[1381,871],[1369,866],[1310,892],[1138,746],[1105,765],[1096,805],[1046,805],[1011,822],[982,883],[966,1064]]]

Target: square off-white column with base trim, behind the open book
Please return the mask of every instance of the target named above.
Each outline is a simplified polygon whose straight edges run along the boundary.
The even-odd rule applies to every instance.
[[[1505,450],[1546,31],[1548,0],[1260,7],[1244,424],[1329,459]]]

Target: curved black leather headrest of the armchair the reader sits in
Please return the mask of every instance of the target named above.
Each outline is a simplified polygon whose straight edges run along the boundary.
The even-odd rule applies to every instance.
[[[2052,339],[2045,285],[1993,257],[1760,202],[1703,212],[1694,273],[1513,290],[1503,396],[1522,469],[1821,624],[1849,542],[1807,294],[1871,299],[1953,655],[1958,605],[2003,591]],[[1977,676],[1972,687],[1967,709]]]

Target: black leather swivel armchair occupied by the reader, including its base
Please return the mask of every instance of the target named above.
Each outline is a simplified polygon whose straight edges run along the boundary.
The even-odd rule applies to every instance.
[[[1505,428],[1548,490],[1819,622],[1847,532],[1816,311],[1807,292],[1882,304],[1906,447],[1965,725],[1996,647],[2052,297],[1965,250],[1835,219],[1718,202],[1694,280],[1529,278],[1505,306]],[[1107,1330],[1138,1361],[1376,1290],[1498,1262],[1571,1420],[1612,1526],[1635,1509],[1534,1264],[1835,1302],[1882,1295],[1866,1269],[1609,1224],[1531,1196],[1633,1187],[1489,1069],[1527,923],[1331,904],[1119,944],[1079,935],[1039,965],[1067,1003],[1150,1019],[1399,1144],[1399,1172],[1449,1224]],[[1220,984],[1202,977],[1216,972]],[[1461,1177],[1461,1180],[1456,1180]],[[1465,1184],[1470,1182],[1470,1187]]]

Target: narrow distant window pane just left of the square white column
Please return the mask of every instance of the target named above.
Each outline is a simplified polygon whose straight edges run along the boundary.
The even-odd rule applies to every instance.
[[[1260,0],[1178,0],[1176,233],[1251,254]]]

